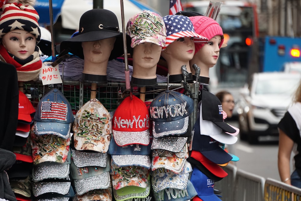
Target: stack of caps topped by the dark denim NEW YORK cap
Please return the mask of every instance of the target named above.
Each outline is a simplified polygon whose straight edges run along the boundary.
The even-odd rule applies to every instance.
[[[191,136],[189,115],[194,102],[175,92],[160,93],[150,105],[153,120],[152,187],[156,201],[176,192],[182,200],[189,200],[196,192],[189,181],[192,171],[188,158],[188,138]],[[189,184],[189,185],[188,185]]]

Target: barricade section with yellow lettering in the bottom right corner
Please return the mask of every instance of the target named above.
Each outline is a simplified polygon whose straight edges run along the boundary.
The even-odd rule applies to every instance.
[[[300,201],[301,189],[267,178],[264,185],[264,201]]]

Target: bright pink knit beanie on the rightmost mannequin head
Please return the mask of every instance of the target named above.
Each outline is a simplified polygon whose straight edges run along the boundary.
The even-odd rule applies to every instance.
[[[197,34],[208,38],[208,40],[212,39],[213,36],[216,35],[222,36],[221,43],[219,44],[219,48],[221,48],[224,42],[224,35],[223,35],[222,27],[219,26],[219,23],[217,23],[212,18],[206,16],[194,16],[194,17],[189,17],[189,19],[191,20],[194,26],[194,31]],[[194,45],[195,45],[194,54],[196,54],[204,46],[204,44],[197,44],[197,43],[195,43]]]

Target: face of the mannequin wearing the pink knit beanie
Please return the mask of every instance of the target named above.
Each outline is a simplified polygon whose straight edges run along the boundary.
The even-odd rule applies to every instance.
[[[194,55],[194,57],[197,57],[200,64],[209,68],[213,67],[219,58],[219,44],[221,40],[222,36],[214,36],[197,52],[197,54]]]

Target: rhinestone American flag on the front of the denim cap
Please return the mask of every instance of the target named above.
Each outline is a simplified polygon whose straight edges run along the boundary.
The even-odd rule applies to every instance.
[[[67,121],[67,104],[60,102],[42,102],[41,119]]]

